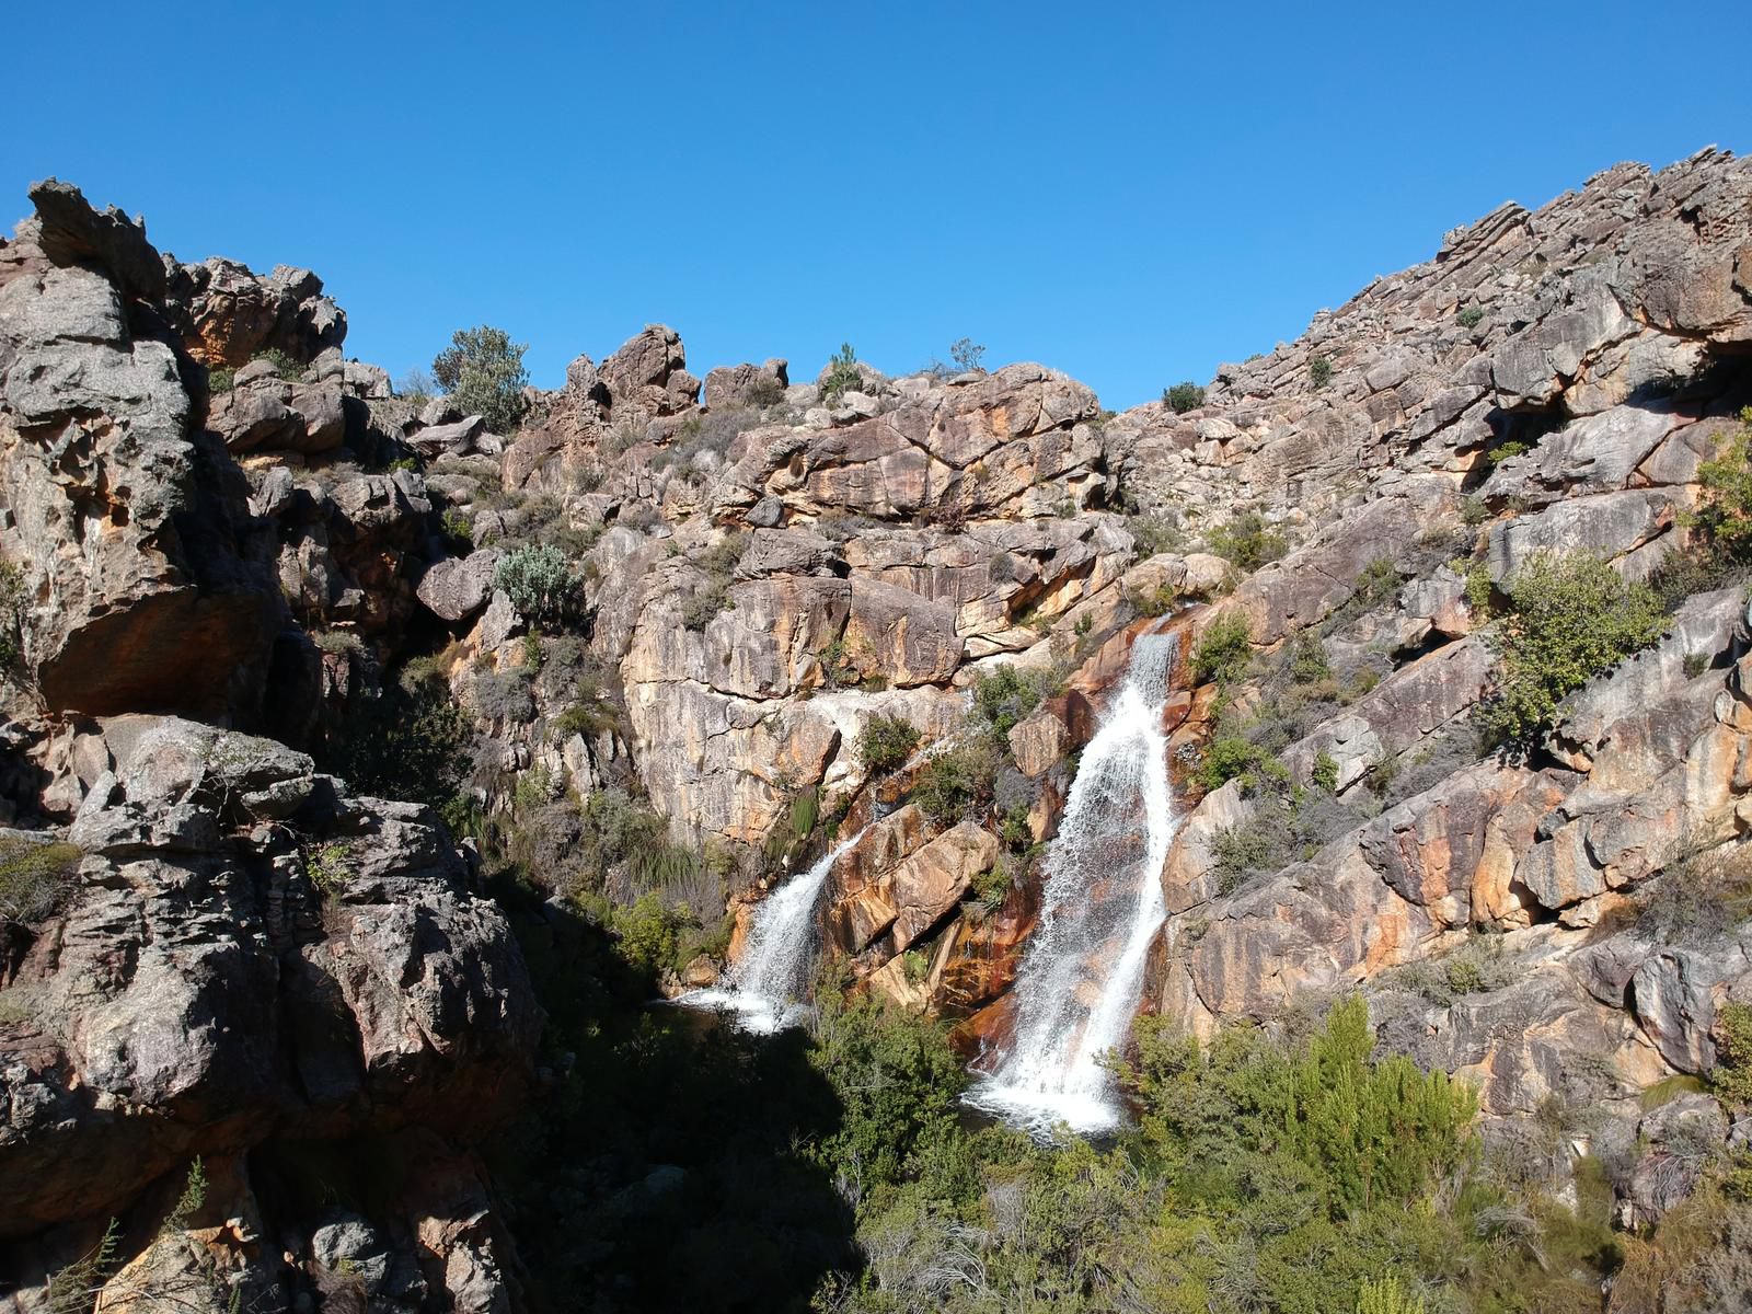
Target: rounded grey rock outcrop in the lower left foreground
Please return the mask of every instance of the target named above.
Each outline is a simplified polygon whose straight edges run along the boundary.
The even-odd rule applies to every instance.
[[[492,1121],[540,1014],[424,809],[191,722],[123,717],[103,745],[77,890],[4,979],[28,1021],[0,1027],[0,1235],[114,1211],[191,1153]]]

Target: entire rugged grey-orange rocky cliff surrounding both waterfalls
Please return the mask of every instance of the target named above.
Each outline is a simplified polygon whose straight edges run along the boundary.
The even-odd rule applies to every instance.
[[[685,908],[675,988],[857,834],[827,943],[978,1053],[1144,631],[1183,657],[1149,1009],[1284,1027],[1361,988],[1494,1135],[1621,1144],[1628,1223],[1671,1204],[1670,1123],[1729,1135],[1706,1095],[1640,1099],[1752,1002],[1719,911],[1745,582],[1677,566],[1752,403],[1747,163],[1503,207],[1176,405],[1104,412],[1037,364],[701,382],[653,326],[506,434],[347,361],[308,272],[32,200],[0,245],[16,1307],[112,1216],[116,1298],[184,1265],[282,1307],[345,1261],[377,1302],[513,1305],[473,1144],[540,1011],[482,864],[555,908]],[[1537,743],[1482,745],[1508,590],[1575,550],[1659,585],[1659,638]],[[396,1190],[324,1207],[300,1160],[359,1146]],[[200,1254],[166,1258],[194,1155]]]

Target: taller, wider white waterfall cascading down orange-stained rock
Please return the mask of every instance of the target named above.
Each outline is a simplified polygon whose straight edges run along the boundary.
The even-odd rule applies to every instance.
[[[1132,645],[1125,685],[1083,750],[1065,815],[1046,855],[1041,925],[1016,976],[1009,1046],[967,1102],[1034,1132],[1069,1123],[1100,1132],[1120,1120],[1100,1065],[1125,1041],[1144,958],[1167,915],[1162,865],[1174,836],[1162,704],[1174,636]]]

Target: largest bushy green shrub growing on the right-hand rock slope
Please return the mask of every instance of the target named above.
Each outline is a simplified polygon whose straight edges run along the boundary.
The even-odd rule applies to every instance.
[[[1519,750],[1556,724],[1565,696],[1666,629],[1649,585],[1626,583],[1586,552],[1535,554],[1503,594],[1508,608],[1493,636],[1496,682],[1484,725]]]

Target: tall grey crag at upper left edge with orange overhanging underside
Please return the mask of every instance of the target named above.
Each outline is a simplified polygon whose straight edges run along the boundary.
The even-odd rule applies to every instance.
[[[252,717],[284,606],[238,550],[240,480],[193,429],[175,345],[131,328],[158,254],[77,191],[44,194],[0,251],[0,496],[25,664],[54,710]]]

